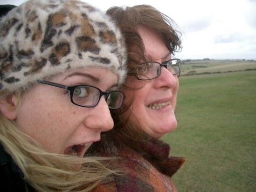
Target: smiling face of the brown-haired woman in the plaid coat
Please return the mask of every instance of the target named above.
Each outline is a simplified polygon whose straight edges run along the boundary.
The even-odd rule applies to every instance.
[[[171,53],[162,39],[154,32],[138,28],[145,45],[147,61],[165,62],[171,59]],[[141,81],[128,77],[126,85],[138,90],[122,90],[126,102],[133,98],[131,110],[135,116],[130,116],[134,124],[140,123],[141,128],[152,137],[159,138],[177,127],[174,114],[179,81],[177,75],[172,75],[166,68],[161,68],[161,74],[156,79]]]

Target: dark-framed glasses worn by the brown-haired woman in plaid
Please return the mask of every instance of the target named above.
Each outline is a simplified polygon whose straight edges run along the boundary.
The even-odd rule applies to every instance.
[[[172,75],[180,75],[180,59],[170,59],[166,62],[146,62],[136,67],[137,79],[155,79],[161,74],[161,67],[165,67]]]

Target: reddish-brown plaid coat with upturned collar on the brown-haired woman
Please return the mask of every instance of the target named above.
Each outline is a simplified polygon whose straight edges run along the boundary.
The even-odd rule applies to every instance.
[[[131,148],[118,149],[112,140],[105,139],[101,145],[103,157],[119,157],[107,167],[120,170],[111,180],[98,185],[93,192],[176,192],[171,177],[185,162],[185,158],[169,157],[170,145],[152,138],[141,143],[147,153],[141,155]]]

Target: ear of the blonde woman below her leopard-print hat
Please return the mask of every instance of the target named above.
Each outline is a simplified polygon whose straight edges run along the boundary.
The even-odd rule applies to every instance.
[[[11,94],[0,98],[0,111],[10,120],[14,120],[17,117],[17,106],[19,99],[16,94]]]

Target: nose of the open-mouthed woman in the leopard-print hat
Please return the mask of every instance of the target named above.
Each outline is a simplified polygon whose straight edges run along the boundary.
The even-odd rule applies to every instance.
[[[88,128],[99,131],[108,131],[114,127],[114,122],[104,96],[100,98],[99,103],[95,107],[91,108],[90,112],[90,118],[85,120]]]

